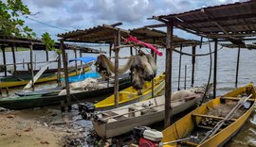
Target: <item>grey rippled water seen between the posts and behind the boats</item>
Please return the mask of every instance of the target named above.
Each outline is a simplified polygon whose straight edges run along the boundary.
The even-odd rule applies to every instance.
[[[102,50],[108,52],[108,47],[102,47]],[[213,45],[211,46],[213,48]],[[220,47],[218,47],[220,48]],[[149,50],[144,50],[146,53],[150,53]],[[161,50],[163,55],[165,55],[165,51]],[[183,51],[186,53],[192,53],[192,47],[185,47]],[[134,51],[135,52],[135,51]],[[204,54],[209,52],[209,45],[204,45],[201,49],[197,47],[196,54]],[[17,62],[22,62],[23,58],[25,61],[29,61],[29,57],[27,57],[29,51],[25,52],[17,52],[16,60]],[[44,61],[46,60],[46,52],[44,51],[35,51],[36,60]],[[74,58],[73,51],[67,51],[68,58]],[[51,57],[53,53],[49,53],[49,57]],[[79,55],[79,54],[78,54]],[[108,55],[108,53],[107,53]],[[120,57],[127,57],[130,55],[130,49],[125,48],[120,50]],[[90,56],[90,54],[82,54],[82,56]],[[96,56],[96,55],[92,55]],[[112,53],[114,56],[114,53]],[[0,55],[0,64],[3,64],[2,54]],[[229,90],[233,90],[235,88],[235,74],[236,74],[236,58],[237,58],[237,49],[227,49],[223,48],[218,51],[218,63],[217,63],[217,95],[221,95]],[[51,60],[53,58],[49,58]],[[213,59],[213,56],[212,56]],[[253,50],[241,49],[240,56],[240,67],[239,67],[239,76],[238,76],[238,87],[245,86],[249,82],[256,81],[256,68],[255,67],[256,60],[256,52]],[[213,60],[212,60],[213,61]],[[11,53],[7,53],[7,62],[12,63]],[[124,64],[126,62],[125,59],[120,59],[120,64]],[[165,71],[165,56],[157,57],[157,68],[158,73],[162,73]],[[178,77],[178,64],[179,64],[179,54],[174,53],[173,57],[173,90],[177,90],[177,77]],[[187,88],[191,86],[191,74],[192,74],[192,57],[182,56],[182,69],[181,69],[181,88],[184,89],[184,71],[185,64],[187,65]],[[213,64],[213,63],[212,63]],[[44,65],[44,64],[43,64]],[[42,64],[37,65],[37,69]],[[74,65],[72,63],[71,65]],[[57,64],[53,64],[50,67],[54,68]],[[19,70],[23,70],[22,65],[18,66]],[[194,73],[194,86],[201,86],[203,84],[207,84],[209,78],[209,69],[210,69],[210,57],[196,57],[195,61],[195,73]],[[211,82],[213,77],[213,68],[211,74]],[[256,112],[251,115],[251,118],[245,123],[241,132],[231,140],[228,146],[241,146],[241,145],[256,145]],[[247,143],[245,143],[247,142]]]

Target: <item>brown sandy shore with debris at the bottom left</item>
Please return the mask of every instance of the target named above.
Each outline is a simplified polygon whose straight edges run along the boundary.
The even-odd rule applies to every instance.
[[[0,112],[0,146],[67,146],[70,142],[66,139],[77,139],[84,133],[73,119],[72,113],[54,109]]]

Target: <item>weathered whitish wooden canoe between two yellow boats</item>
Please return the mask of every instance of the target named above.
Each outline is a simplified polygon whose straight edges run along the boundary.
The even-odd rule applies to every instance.
[[[172,95],[175,92],[182,92],[182,90],[174,91]],[[193,92],[185,97],[180,96],[178,100],[172,102],[173,114],[195,106],[201,96],[202,94],[195,94]],[[136,126],[150,125],[163,121],[164,104],[165,99],[164,95],[162,95],[133,105],[100,111],[94,114],[92,123],[96,133],[102,139],[113,138],[132,131]]]

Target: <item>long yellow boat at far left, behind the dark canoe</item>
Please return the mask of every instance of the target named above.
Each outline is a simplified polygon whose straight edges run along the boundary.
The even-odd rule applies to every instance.
[[[85,71],[89,71],[89,68],[86,67]],[[68,73],[68,76],[73,76],[76,75],[76,72],[71,72]],[[64,77],[64,73],[61,74],[61,77]],[[10,87],[18,87],[18,86],[23,86],[23,85],[27,85],[27,83],[31,80],[31,76],[30,75],[25,75],[22,77],[6,77],[6,78],[2,78],[0,79],[0,88],[10,88]],[[43,73],[41,75],[41,77],[35,82],[35,83],[44,83],[44,82],[48,82],[48,81],[53,81],[53,80],[57,80],[57,74],[56,73]]]

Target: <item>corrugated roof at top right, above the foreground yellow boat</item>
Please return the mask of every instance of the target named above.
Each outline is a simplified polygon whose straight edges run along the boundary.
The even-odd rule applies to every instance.
[[[256,36],[256,1],[199,8],[183,13],[157,16],[160,21],[210,38]]]

